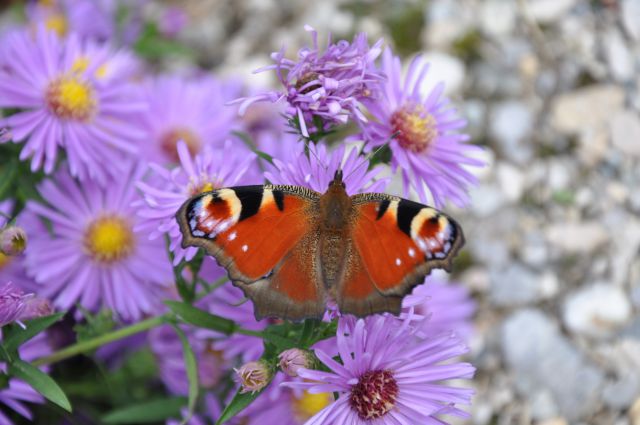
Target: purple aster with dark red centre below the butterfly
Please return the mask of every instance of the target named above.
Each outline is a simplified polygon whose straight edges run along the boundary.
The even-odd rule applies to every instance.
[[[337,346],[342,363],[316,350],[330,371],[301,369],[298,375],[306,381],[284,384],[313,394],[339,394],[307,424],[438,423],[434,415],[466,417],[455,406],[469,404],[473,391],[442,381],[473,376],[470,364],[451,362],[468,348],[452,334],[420,338],[414,322],[390,315],[341,319]]]

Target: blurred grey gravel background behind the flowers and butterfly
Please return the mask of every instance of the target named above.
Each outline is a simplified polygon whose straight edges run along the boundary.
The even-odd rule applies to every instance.
[[[448,210],[478,302],[471,422],[640,425],[640,0],[139,3],[161,70],[264,87],[304,24],[424,53],[489,162]]]

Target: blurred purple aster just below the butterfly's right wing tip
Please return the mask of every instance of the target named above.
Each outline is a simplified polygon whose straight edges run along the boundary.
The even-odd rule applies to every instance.
[[[455,332],[468,341],[473,333],[471,321],[476,303],[469,290],[459,283],[446,283],[433,276],[427,276],[424,285],[418,285],[410,295],[402,300],[405,312],[412,312],[427,320],[420,322],[427,336],[444,332]]]

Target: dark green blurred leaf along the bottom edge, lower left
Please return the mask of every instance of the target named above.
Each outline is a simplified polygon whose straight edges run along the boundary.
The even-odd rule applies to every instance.
[[[180,409],[187,400],[184,397],[162,398],[145,401],[112,410],[102,417],[105,424],[144,424],[164,422],[180,417]]]

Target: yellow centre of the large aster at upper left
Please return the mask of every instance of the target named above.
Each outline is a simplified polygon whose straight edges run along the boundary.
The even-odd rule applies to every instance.
[[[74,75],[63,76],[49,83],[46,100],[49,109],[58,117],[79,121],[89,119],[97,103],[91,85]]]

